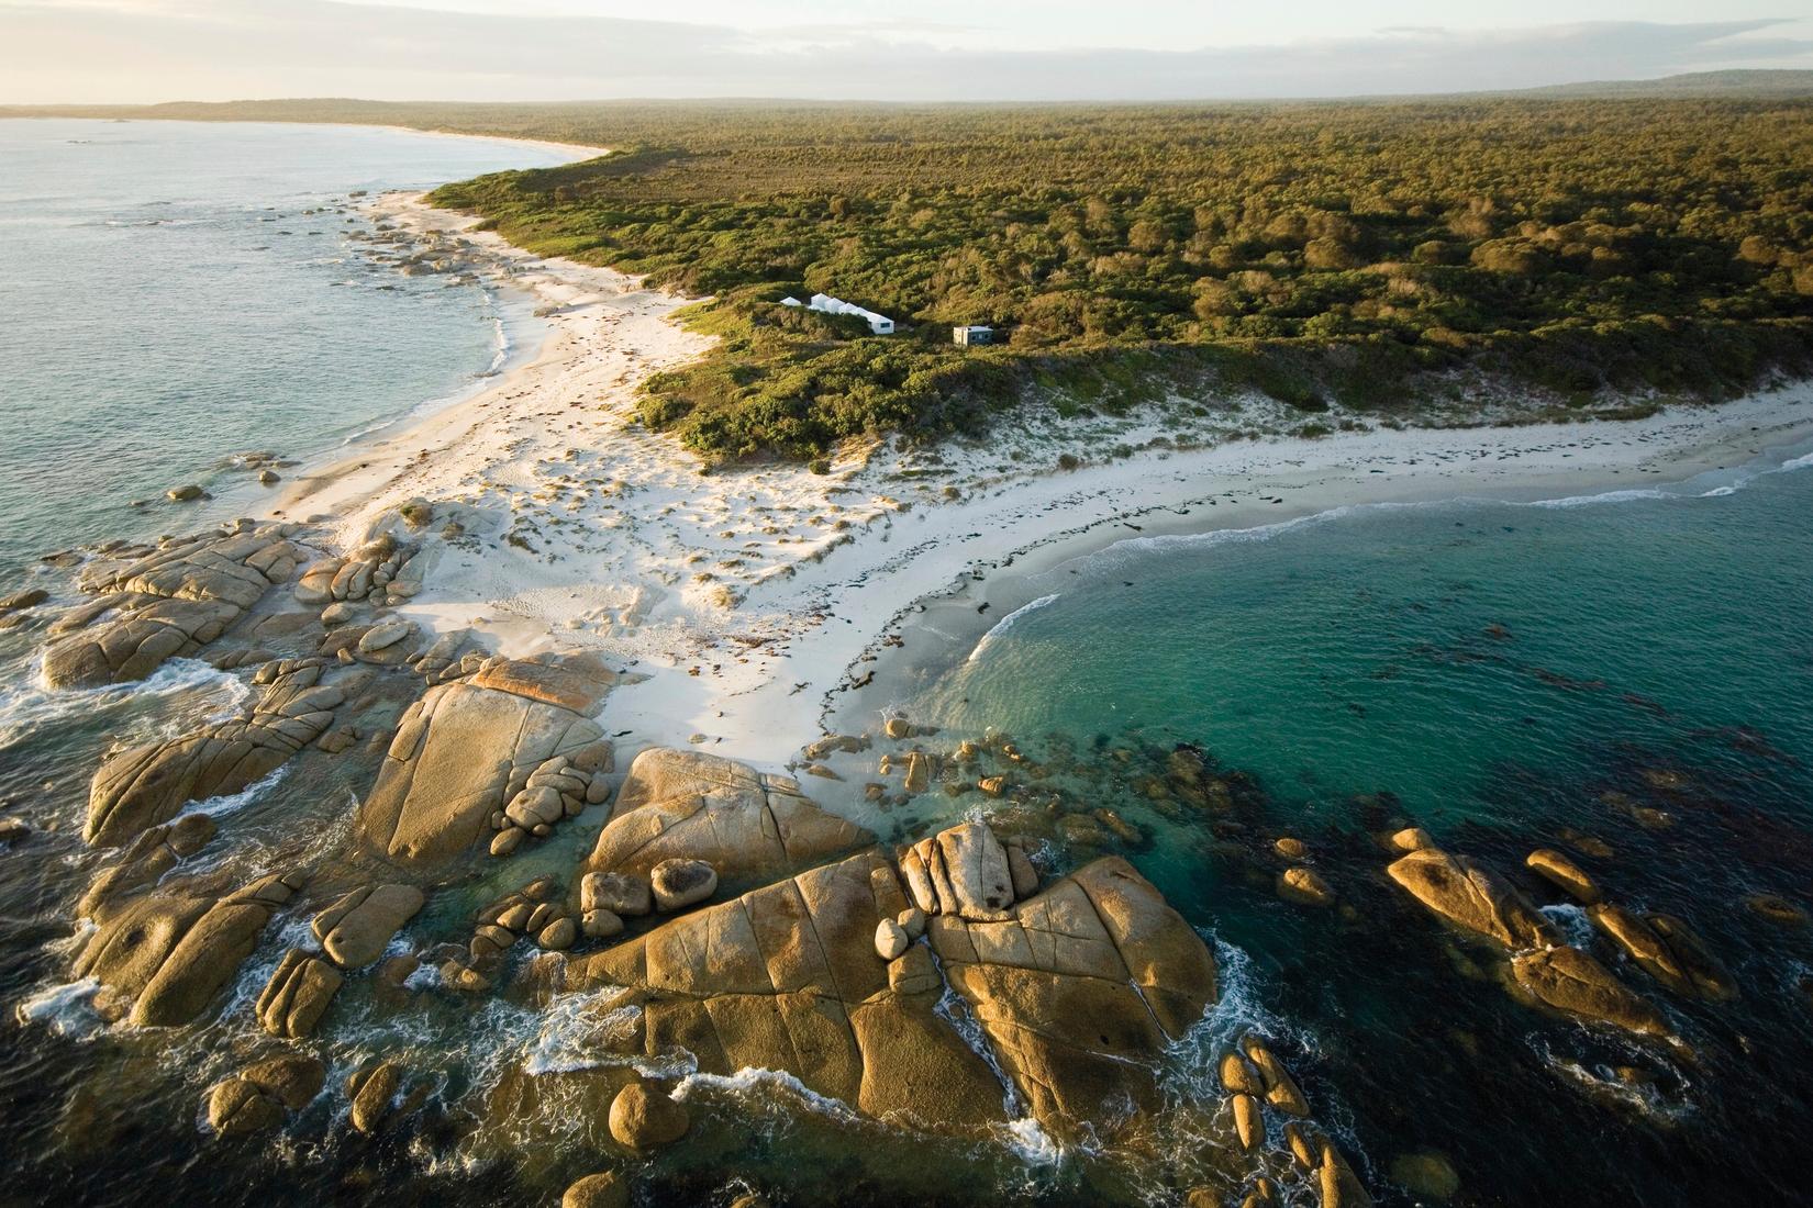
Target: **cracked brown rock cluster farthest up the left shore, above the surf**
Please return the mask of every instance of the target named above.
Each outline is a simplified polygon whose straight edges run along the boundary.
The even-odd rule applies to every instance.
[[[129,547],[83,567],[78,585],[98,599],[51,627],[45,681],[54,688],[123,683],[196,654],[296,574],[303,551],[294,534],[294,525],[241,522]]]

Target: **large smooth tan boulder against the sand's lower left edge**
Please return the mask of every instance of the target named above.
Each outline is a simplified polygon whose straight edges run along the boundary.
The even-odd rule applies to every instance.
[[[473,848],[499,829],[493,815],[506,817],[506,804],[555,761],[566,761],[562,770],[611,766],[604,732],[544,699],[558,694],[569,705],[595,706],[569,694],[566,681],[577,681],[575,674],[508,661],[488,666],[430,688],[402,715],[359,815],[368,842],[386,858],[413,864]]]

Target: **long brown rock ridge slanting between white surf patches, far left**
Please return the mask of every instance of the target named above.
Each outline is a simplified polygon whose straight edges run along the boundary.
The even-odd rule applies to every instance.
[[[109,757],[89,784],[82,837],[96,846],[129,842],[190,801],[238,793],[281,768],[334,724],[346,699],[321,683],[325,668],[321,659],[267,663],[254,677],[265,692],[245,717]]]

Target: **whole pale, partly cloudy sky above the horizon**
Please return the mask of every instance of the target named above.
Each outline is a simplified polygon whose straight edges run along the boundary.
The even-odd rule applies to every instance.
[[[0,103],[1191,100],[1813,69],[1813,0],[0,0]]]

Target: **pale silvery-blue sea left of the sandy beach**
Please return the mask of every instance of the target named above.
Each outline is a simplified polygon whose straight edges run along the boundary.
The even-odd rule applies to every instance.
[[[194,525],[163,491],[243,484],[227,455],[317,456],[470,389],[499,360],[500,304],[364,261],[348,194],[562,158],[357,127],[0,121],[0,587],[53,549]]]

